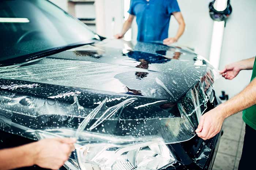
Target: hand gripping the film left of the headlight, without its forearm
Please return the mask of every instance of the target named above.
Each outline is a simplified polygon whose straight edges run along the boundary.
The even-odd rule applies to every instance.
[[[42,168],[58,170],[74,151],[75,138],[43,139],[35,142],[36,151],[34,165]]]

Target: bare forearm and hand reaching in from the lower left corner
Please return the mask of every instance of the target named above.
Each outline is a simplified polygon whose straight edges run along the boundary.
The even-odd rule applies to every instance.
[[[74,150],[75,139],[44,139],[27,145],[0,150],[0,170],[38,165],[59,169]]]

